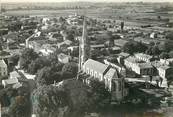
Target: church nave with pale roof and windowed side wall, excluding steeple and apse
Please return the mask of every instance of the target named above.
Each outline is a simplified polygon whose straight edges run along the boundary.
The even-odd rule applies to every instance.
[[[83,71],[90,76],[103,81],[103,76],[108,71],[109,66],[98,61],[88,59],[83,65]]]

